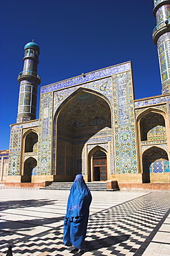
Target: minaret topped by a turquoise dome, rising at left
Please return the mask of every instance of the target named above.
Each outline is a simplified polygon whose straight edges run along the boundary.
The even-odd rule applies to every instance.
[[[41,77],[37,74],[39,64],[39,46],[32,42],[24,47],[23,71],[19,73],[20,83],[17,122],[36,119],[37,86]]]

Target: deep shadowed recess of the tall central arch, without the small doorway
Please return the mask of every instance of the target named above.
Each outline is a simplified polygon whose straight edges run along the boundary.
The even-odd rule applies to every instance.
[[[76,174],[88,175],[85,145],[105,143],[108,136],[111,136],[109,104],[94,92],[79,91],[54,118],[53,174],[63,176],[66,181],[74,179]]]

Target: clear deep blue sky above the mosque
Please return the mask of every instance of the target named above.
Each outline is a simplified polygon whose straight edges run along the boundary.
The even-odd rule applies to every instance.
[[[161,94],[152,0],[0,0],[0,19],[0,149],[9,148],[23,47],[32,39],[41,51],[39,89],[131,60],[135,98]]]

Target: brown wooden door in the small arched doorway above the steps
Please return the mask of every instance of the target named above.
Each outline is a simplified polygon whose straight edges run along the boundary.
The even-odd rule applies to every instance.
[[[94,181],[107,181],[107,156],[101,150],[93,155],[93,178]]]

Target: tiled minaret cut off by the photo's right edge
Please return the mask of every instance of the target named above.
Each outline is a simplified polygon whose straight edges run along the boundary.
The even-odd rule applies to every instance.
[[[153,42],[158,47],[162,94],[170,93],[170,1],[153,0],[153,15],[156,28],[153,29]]]

